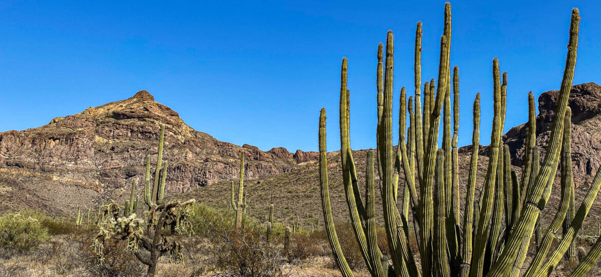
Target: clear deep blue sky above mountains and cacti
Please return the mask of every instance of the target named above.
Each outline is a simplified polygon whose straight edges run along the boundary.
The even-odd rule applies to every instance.
[[[365,2],[2,1],[0,131],[38,127],[145,89],[196,130],[263,150],[317,150],[326,107],[328,150],[336,150],[346,56],[352,147],[374,147],[377,44],[394,31],[398,103],[401,86],[413,92],[418,20],[423,81],[437,76],[444,1]],[[481,143],[489,143],[494,57],[508,72],[505,131],[526,121],[528,91],[538,97],[559,88],[573,7],[582,16],[574,82],[601,83],[601,1],[489,2],[451,2],[460,145],[471,143],[476,92]]]

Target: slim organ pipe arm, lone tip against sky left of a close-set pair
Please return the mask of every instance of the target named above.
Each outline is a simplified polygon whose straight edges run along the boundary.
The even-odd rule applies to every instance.
[[[472,260],[472,231],[474,226],[474,194],[476,190],[476,173],[478,165],[478,149],[480,146],[480,94],[474,100],[474,131],[472,133],[472,157],[469,161],[468,192],[465,196],[465,212],[463,215],[463,245],[461,277],[469,275]]]

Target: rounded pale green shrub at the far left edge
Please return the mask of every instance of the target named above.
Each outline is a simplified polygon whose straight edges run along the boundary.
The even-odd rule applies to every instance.
[[[31,216],[20,213],[0,216],[0,248],[28,252],[48,238],[48,229]]]

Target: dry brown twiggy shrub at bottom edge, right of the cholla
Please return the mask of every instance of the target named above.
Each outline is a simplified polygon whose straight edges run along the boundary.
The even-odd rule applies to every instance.
[[[281,249],[255,229],[217,232],[212,252],[216,269],[227,276],[289,276]]]

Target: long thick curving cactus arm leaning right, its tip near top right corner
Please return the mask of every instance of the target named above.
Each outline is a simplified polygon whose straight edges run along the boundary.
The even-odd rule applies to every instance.
[[[507,275],[511,262],[516,258],[517,251],[519,251],[518,248],[521,244],[522,237],[532,235],[536,218],[540,215],[540,209],[535,203],[540,199],[548,180],[554,177],[555,172],[557,171],[564,125],[563,116],[566,112],[567,100],[570,96],[570,89],[572,88],[572,81],[574,79],[574,68],[576,66],[579,20],[580,16],[578,9],[574,8],[572,10],[566,68],[564,70],[560,95],[555,110],[551,137],[549,138],[548,149],[545,153],[545,160],[543,161],[543,165],[538,173],[534,186],[529,188],[529,190],[532,190],[532,194],[530,194],[529,198],[526,200],[527,204],[523,207],[522,214],[516,227],[511,231],[507,246],[505,246],[495,267],[493,267],[490,272],[491,277]]]

